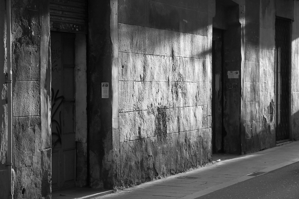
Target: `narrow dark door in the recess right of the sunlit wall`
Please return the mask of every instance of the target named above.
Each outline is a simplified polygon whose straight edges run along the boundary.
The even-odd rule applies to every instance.
[[[212,37],[212,151],[223,152],[223,30],[213,29]]]

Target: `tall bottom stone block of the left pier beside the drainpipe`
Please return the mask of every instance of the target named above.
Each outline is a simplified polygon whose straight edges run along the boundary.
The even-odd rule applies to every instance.
[[[40,117],[13,118],[15,198],[41,198],[40,124]]]

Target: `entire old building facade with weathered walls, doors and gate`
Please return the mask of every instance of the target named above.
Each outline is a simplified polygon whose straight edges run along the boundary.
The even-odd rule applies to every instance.
[[[0,16],[0,198],[299,139],[297,0],[1,0]]]

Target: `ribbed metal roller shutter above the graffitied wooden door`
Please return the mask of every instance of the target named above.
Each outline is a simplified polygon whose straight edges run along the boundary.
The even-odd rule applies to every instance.
[[[87,0],[50,0],[51,30],[87,33]]]

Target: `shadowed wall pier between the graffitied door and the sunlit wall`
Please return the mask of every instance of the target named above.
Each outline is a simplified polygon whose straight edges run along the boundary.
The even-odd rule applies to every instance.
[[[117,0],[89,1],[87,117],[93,188],[114,188],[120,183],[117,6]],[[109,83],[109,98],[101,98],[101,82]]]

